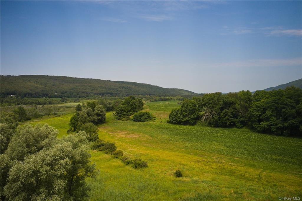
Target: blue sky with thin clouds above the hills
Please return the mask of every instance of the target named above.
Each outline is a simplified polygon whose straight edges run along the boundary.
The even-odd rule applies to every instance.
[[[0,73],[265,89],[302,78],[302,1],[1,1]]]

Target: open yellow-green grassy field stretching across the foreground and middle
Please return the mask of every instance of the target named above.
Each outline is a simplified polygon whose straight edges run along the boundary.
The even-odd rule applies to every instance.
[[[302,197],[302,139],[254,133],[247,129],[166,123],[179,101],[144,106],[151,122],[116,121],[107,113],[99,137],[115,142],[126,156],[148,162],[136,170],[119,159],[91,151],[99,169],[91,200],[278,200]],[[67,135],[71,114],[43,118]],[[183,177],[173,176],[180,169]]]

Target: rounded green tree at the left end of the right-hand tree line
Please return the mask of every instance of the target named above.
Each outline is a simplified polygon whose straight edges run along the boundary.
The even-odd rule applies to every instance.
[[[169,114],[172,124],[195,124],[198,119],[198,105],[194,100],[184,100],[179,109],[174,109]]]

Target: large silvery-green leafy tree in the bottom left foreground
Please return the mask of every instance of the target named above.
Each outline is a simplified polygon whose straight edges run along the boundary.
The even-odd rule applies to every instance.
[[[50,148],[15,163],[4,187],[9,200],[88,200],[86,177],[95,177],[85,132],[68,135]]]

